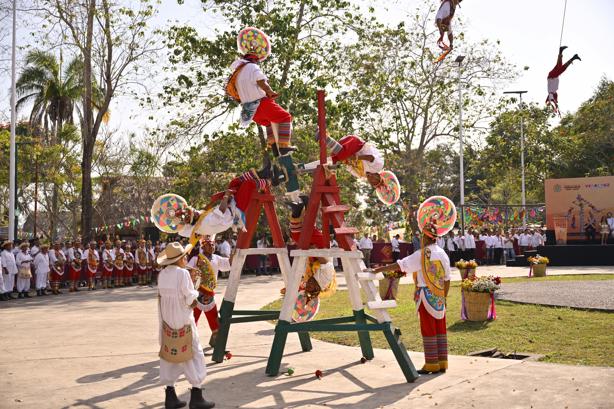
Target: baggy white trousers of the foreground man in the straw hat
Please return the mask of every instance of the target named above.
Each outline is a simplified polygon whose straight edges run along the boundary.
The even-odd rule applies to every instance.
[[[194,388],[200,388],[207,376],[205,354],[200,346],[198,330],[192,324],[192,351],[193,356],[187,362],[174,364],[160,359],[160,383],[165,386],[174,386],[177,379],[183,374]]]

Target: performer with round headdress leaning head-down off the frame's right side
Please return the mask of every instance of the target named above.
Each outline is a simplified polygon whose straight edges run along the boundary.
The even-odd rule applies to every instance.
[[[320,140],[319,134],[316,140]],[[331,150],[332,163],[342,163],[352,175],[366,180],[384,204],[390,206],[399,200],[401,185],[394,173],[384,170],[384,156],[375,145],[357,135],[346,135],[339,141],[327,136],[326,146]],[[319,164],[315,161],[300,164],[298,168],[311,170]]]

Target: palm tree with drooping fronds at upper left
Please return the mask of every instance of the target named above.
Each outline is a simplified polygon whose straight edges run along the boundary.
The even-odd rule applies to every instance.
[[[73,123],[76,102],[83,95],[82,63],[73,59],[62,70],[62,58],[52,53],[33,50],[16,84],[17,110],[32,103],[30,127],[42,129],[47,145],[62,143],[60,135],[65,123]],[[50,237],[55,239],[58,217],[58,184],[53,182]]]

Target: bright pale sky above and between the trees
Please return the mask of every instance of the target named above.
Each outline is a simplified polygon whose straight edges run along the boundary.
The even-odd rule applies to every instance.
[[[438,0],[432,0],[437,6]],[[362,2],[373,5],[385,21],[397,23],[405,12],[411,12],[421,0],[380,0]],[[206,15],[200,0],[163,0],[160,15],[154,21],[158,27],[169,21],[189,23],[203,34],[221,21]],[[507,90],[529,91],[528,101],[543,103],[546,97],[546,75],[556,62],[561,34],[565,0],[464,0],[457,16],[465,21],[468,39],[500,40],[505,57],[516,66],[529,66],[521,71],[520,78],[509,84]],[[578,53],[582,61],[574,63],[561,77],[559,102],[563,112],[574,111],[591,96],[602,76],[614,79],[614,54],[611,39],[614,38],[614,0],[567,0],[567,14],[563,32],[563,44],[569,46],[565,57]],[[25,38],[20,38],[25,41]],[[10,41],[10,39],[9,39]],[[1,74],[0,74],[1,75]],[[0,79],[3,92],[0,100],[0,120],[8,116],[6,89],[10,79]],[[147,115],[139,115],[136,104],[125,98],[112,105],[111,126],[122,133],[134,130],[134,126],[146,123]],[[129,108],[129,109],[126,109]],[[141,119],[142,118],[142,119]]]

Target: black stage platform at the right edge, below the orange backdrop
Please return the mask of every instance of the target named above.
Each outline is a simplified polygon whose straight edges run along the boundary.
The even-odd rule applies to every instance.
[[[611,244],[605,246],[599,244],[542,246],[534,252],[548,257],[551,266],[614,266],[614,245]]]

